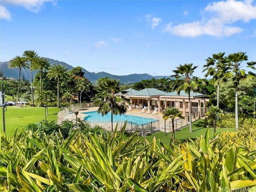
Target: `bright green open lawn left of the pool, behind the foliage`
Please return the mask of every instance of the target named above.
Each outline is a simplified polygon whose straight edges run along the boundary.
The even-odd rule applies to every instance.
[[[57,107],[48,107],[47,120],[57,120]],[[22,107],[8,106],[5,112],[6,134],[13,134],[16,127],[20,130],[29,123],[42,121],[45,119],[44,107]],[[3,132],[2,107],[0,112],[0,132]]]

